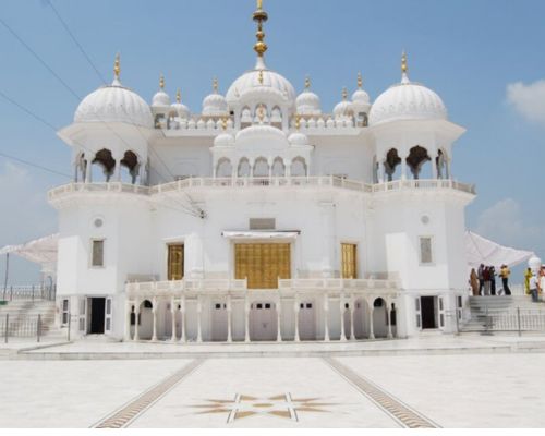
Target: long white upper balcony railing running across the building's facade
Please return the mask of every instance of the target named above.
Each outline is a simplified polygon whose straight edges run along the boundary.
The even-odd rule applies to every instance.
[[[155,186],[142,186],[121,182],[110,183],[70,183],[56,187],[48,193],[49,199],[57,199],[64,195],[88,192],[88,193],[126,193],[141,195],[157,195],[172,192],[181,192],[189,189],[199,187],[318,187],[330,186],[363,193],[385,193],[399,191],[428,191],[428,190],[453,190],[468,194],[475,194],[472,184],[460,183],[453,180],[397,180],[393,182],[370,184],[356,180],[348,180],[334,175],[320,177],[271,177],[271,178],[189,178],[175,182],[158,184]]]

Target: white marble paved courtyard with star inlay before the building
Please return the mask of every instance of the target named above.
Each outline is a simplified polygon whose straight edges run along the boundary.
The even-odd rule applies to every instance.
[[[545,353],[0,361],[0,427],[544,427]]]

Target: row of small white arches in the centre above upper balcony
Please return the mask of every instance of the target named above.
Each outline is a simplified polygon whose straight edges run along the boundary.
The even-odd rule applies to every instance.
[[[308,166],[305,158],[298,156],[291,160],[276,157],[267,159],[258,157],[250,159],[247,157],[241,158],[238,162],[231,162],[228,157],[222,157],[218,160],[215,167],[216,178],[230,178],[230,177],[254,177],[254,178],[268,178],[268,177],[306,177],[308,175]]]

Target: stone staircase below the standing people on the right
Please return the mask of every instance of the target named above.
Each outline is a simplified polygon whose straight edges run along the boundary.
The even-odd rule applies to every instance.
[[[460,331],[486,331],[487,313],[509,313],[516,311],[517,307],[545,310],[545,304],[533,303],[530,295],[470,296],[471,318]]]

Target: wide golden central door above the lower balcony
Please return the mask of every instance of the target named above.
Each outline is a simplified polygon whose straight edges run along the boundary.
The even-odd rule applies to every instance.
[[[290,244],[235,244],[234,265],[249,289],[277,289],[278,277],[291,278]]]

